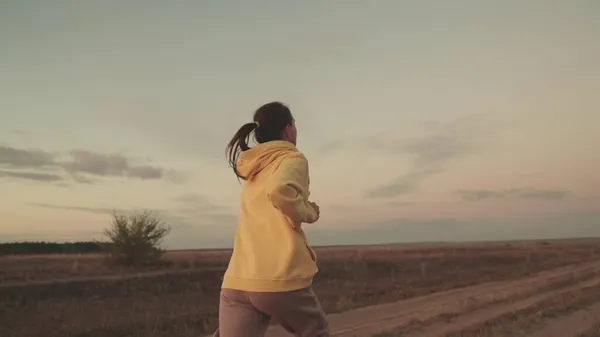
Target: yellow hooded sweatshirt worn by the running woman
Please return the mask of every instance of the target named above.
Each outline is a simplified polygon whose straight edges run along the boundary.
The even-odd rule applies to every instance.
[[[319,215],[308,203],[308,161],[292,143],[271,141],[244,151],[237,169],[247,180],[222,287],[255,292],[309,287],[318,268],[301,224]]]

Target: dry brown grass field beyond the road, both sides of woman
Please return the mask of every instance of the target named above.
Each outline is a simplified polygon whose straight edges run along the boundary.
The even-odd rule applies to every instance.
[[[325,310],[335,312],[514,279],[594,259],[600,248],[590,241],[321,248],[318,253],[321,272],[314,288]],[[0,336],[201,336],[216,327],[223,271],[214,267],[224,267],[229,255],[170,252],[159,270],[121,269],[101,256],[0,258]],[[152,274],[126,277],[132,272]]]

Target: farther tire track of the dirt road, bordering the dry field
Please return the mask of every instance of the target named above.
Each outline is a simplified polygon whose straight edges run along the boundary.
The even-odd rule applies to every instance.
[[[372,336],[376,333],[410,325],[417,320],[428,321],[447,314],[460,314],[474,307],[481,307],[516,296],[531,295],[543,288],[577,282],[598,273],[600,273],[600,261],[595,261],[544,271],[518,280],[484,283],[333,314],[328,316],[331,335],[338,337]],[[574,287],[582,287],[590,282],[598,282],[598,279],[582,282]],[[564,291],[564,289],[560,291]],[[291,335],[278,326],[270,328],[267,332],[267,337],[285,336]]]

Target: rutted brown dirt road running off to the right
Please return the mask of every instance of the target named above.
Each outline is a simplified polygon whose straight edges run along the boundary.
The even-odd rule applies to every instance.
[[[570,331],[585,332],[600,323],[598,305],[592,303],[592,309],[579,308],[583,299],[590,298],[600,303],[600,261],[569,266],[536,274],[531,277],[509,281],[491,282],[476,286],[434,293],[428,296],[412,298],[396,303],[360,308],[329,316],[331,335],[337,337],[375,336],[419,336],[437,337],[452,333],[484,329],[484,324],[491,324],[506,315],[516,312],[527,312],[527,317],[536,318],[531,308],[540,303],[551,303],[560,296],[581,293],[578,300],[572,300],[571,308],[578,308],[574,313],[565,310],[563,316],[553,319],[538,319],[536,331],[530,331],[533,323],[527,326],[514,325],[514,331],[507,336],[521,335],[516,331],[527,330],[525,335],[536,337],[572,336]],[[579,294],[577,293],[577,294]],[[575,295],[573,295],[575,296]],[[594,297],[595,296],[595,297]],[[552,302],[553,303],[553,302]],[[562,301],[564,304],[564,299]],[[546,305],[546,304],[545,304]],[[564,306],[564,305],[563,305]],[[568,309],[568,308],[567,308]],[[538,315],[539,316],[539,315]],[[539,317],[537,317],[539,318]],[[537,319],[536,318],[536,319]],[[533,321],[532,321],[533,322]],[[489,323],[489,324],[488,324]],[[479,331],[479,330],[478,330]],[[567,332],[567,334],[565,334]],[[473,336],[485,336],[473,332]],[[268,337],[292,336],[280,327],[272,327]],[[461,335],[462,336],[462,335]]]

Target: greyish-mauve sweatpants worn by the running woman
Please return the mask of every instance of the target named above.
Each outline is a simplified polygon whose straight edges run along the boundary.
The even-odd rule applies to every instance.
[[[288,292],[222,289],[213,337],[263,337],[271,318],[298,337],[329,337],[329,323],[311,288]]]

